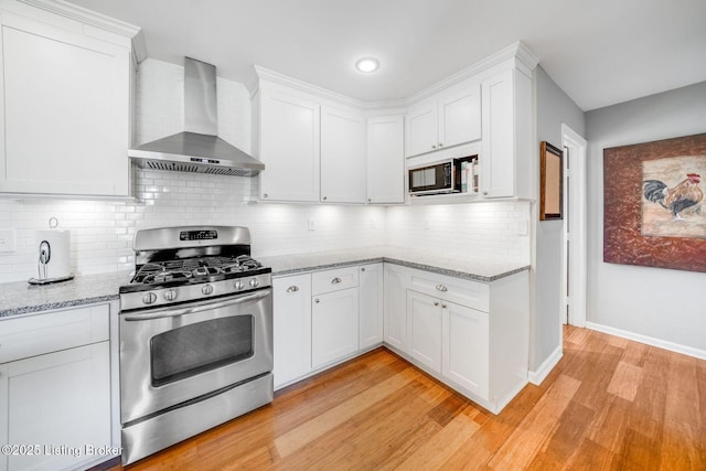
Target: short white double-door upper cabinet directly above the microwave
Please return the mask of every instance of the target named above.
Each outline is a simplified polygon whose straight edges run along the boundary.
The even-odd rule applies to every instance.
[[[481,138],[481,92],[478,83],[462,82],[407,111],[405,156],[450,148]]]

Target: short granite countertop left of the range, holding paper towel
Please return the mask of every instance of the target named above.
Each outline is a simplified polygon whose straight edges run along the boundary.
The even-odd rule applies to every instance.
[[[118,290],[129,280],[129,271],[81,275],[51,285],[26,281],[0,283],[0,319],[53,309],[71,308],[119,298]]]

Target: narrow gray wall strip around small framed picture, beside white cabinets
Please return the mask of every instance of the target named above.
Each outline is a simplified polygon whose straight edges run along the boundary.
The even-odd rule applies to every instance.
[[[536,73],[537,104],[537,169],[539,142],[561,147],[561,125],[586,136],[584,111],[568,97],[542,68]],[[538,175],[537,175],[538,178]],[[537,189],[539,185],[537,184]],[[537,194],[537,201],[539,200]],[[536,371],[561,344],[561,228],[563,221],[539,222],[535,205],[536,255],[534,278],[534,315],[531,325],[532,350],[530,370]]]

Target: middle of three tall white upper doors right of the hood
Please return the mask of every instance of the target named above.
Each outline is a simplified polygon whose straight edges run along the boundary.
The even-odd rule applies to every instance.
[[[321,201],[365,203],[366,174],[363,114],[321,107]]]

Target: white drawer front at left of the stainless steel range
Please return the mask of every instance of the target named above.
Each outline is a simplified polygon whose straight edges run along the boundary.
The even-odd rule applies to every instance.
[[[106,341],[109,312],[106,303],[0,321],[0,363]]]

